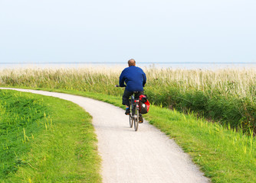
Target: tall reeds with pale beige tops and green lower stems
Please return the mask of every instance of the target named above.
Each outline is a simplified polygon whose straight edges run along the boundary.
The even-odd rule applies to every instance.
[[[57,88],[122,95],[118,84],[123,68],[4,69],[0,85]],[[146,93],[154,104],[179,111],[195,111],[231,127],[256,127],[256,69],[143,68]]]

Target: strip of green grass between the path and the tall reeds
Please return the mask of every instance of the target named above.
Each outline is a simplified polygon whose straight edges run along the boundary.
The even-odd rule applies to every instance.
[[[120,97],[60,89],[51,91],[86,96],[123,107]],[[212,182],[256,182],[256,140],[253,136],[208,123],[193,114],[185,115],[157,106],[151,106],[144,117],[176,140]]]

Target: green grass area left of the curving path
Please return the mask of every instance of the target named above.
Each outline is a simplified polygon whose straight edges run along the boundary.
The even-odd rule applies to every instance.
[[[94,127],[82,108],[24,92],[0,90],[0,99],[0,182],[101,181]]]

